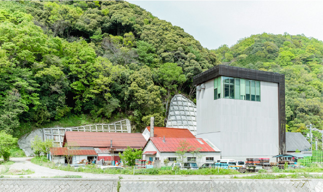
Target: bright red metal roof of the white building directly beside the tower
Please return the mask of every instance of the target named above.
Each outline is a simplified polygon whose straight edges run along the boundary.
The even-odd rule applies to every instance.
[[[196,148],[201,147],[201,149],[199,150],[200,152],[215,152],[215,150],[201,138],[167,137],[165,138],[165,142],[163,142],[163,138],[161,137],[150,137],[149,139],[160,152],[175,152],[180,147],[180,142],[182,140],[186,140],[186,142],[188,142],[189,145],[192,146],[188,151],[193,151]]]

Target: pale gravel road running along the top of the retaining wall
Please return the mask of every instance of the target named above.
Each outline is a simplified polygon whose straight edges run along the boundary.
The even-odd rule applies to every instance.
[[[237,175],[130,175],[130,174],[93,174],[87,172],[71,172],[64,170],[51,169],[45,166],[40,166],[37,164],[33,164],[30,162],[32,157],[16,157],[10,158],[10,160],[14,161],[13,164],[9,165],[9,170],[11,169],[30,169],[33,170],[32,174],[25,175],[3,175],[5,177],[52,177],[52,176],[63,176],[63,175],[81,175],[82,178],[118,178],[122,176],[123,179],[127,180],[209,180],[212,178],[231,178],[232,176],[248,176],[253,174],[237,174]],[[4,167],[0,165],[0,168]],[[257,174],[257,173],[256,173]],[[279,173],[273,173],[279,174]],[[284,173],[290,174],[290,173]],[[310,174],[322,174],[321,172],[311,172]]]

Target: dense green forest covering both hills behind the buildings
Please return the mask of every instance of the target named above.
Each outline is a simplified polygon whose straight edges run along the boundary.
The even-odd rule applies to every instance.
[[[284,73],[286,130],[305,133],[323,128],[322,58],[322,41],[288,33],[208,50],[126,1],[1,1],[0,130],[80,114],[164,126],[171,96],[194,100],[192,77],[222,63]]]

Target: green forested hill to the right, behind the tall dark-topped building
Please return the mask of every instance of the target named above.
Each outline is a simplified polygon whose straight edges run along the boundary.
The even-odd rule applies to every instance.
[[[305,133],[310,123],[323,128],[322,41],[262,33],[212,51],[223,64],[285,74],[287,131]]]

